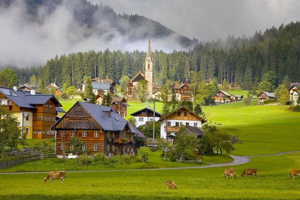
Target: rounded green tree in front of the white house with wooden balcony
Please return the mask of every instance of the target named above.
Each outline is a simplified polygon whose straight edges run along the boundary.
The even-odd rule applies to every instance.
[[[194,151],[197,147],[196,134],[189,134],[184,126],[176,133],[174,138],[175,149],[174,152],[180,155],[179,162],[182,161],[182,155],[186,151]]]

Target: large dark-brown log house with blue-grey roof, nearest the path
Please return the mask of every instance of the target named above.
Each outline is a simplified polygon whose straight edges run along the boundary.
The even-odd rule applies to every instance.
[[[89,154],[106,155],[134,152],[135,138],[145,136],[112,107],[77,101],[53,126],[56,131],[56,154],[73,150],[71,137],[84,144]]]

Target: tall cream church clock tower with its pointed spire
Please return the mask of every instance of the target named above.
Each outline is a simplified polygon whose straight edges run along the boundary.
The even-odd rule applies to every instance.
[[[152,77],[153,77],[153,70],[152,70],[152,53],[151,53],[151,46],[150,46],[150,39],[148,41],[148,51],[145,57],[145,79],[148,81],[148,96],[147,98],[152,98]]]

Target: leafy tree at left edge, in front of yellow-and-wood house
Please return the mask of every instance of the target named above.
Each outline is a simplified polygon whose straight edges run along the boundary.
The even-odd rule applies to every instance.
[[[25,145],[26,134],[22,132],[19,121],[16,117],[6,115],[3,110],[0,110],[0,153],[6,147],[17,150],[18,145]]]

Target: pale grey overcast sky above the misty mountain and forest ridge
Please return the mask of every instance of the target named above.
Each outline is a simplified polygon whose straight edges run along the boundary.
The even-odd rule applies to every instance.
[[[90,0],[117,13],[144,15],[202,41],[252,36],[255,30],[300,20],[300,0]]]

